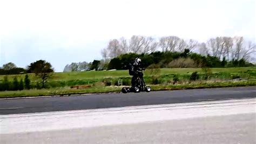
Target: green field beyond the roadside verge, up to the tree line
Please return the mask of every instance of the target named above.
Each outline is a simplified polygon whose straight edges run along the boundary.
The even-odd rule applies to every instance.
[[[152,71],[145,71],[145,82],[147,84],[169,84],[173,82],[176,76],[179,83],[187,82],[193,72],[197,71],[199,80],[205,80],[205,70],[201,68],[163,68],[158,71],[158,75],[152,74]],[[211,73],[207,75],[207,80],[231,80],[232,78],[256,78],[256,67],[246,68],[211,68]],[[3,80],[0,75],[0,82]],[[9,80],[14,77],[24,78],[25,75],[9,75]],[[32,85],[40,82],[35,74],[29,74]],[[70,87],[72,85],[93,84],[95,82],[104,82],[105,85],[118,85],[118,81],[123,85],[131,84],[131,76],[127,70],[116,71],[81,71],[70,73],[54,73],[49,79],[49,88]]]

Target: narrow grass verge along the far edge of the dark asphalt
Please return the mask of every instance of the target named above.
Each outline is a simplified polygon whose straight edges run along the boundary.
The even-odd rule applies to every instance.
[[[151,85],[153,91],[158,90],[180,90],[180,89],[203,89],[203,88],[224,88],[224,87],[242,87],[256,85],[256,81],[238,81],[238,82],[212,82],[212,83],[190,83],[176,85]],[[14,97],[37,97],[37,96],[63,96],[82,93],[107,93],[120,92],[122,87],[92,87],[89,89],[43,89],[43,90],[22,90],[22,91],[3,91],[0,92],[0,98]]]

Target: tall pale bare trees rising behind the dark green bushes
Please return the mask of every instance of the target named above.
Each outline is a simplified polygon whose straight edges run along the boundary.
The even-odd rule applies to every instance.
[[[200,43],[194,39],[184,40],[177,36],[156,39],[133,35],[130,39],[111,39],[101,53],[106,60],[126,53],[184,52],[185,49],[205,56],[218,57],[220,60],[225,57],[227,61],[250,61],[256,52],[255,43],[243,37],[216,37]]]

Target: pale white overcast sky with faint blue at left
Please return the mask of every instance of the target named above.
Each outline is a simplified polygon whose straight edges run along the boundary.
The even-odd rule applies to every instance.
[[[255,1],[0,1],[0,66],[101,59],[107,41],[132,35],[177,35],[200,42],[217,36],[255,41]]]

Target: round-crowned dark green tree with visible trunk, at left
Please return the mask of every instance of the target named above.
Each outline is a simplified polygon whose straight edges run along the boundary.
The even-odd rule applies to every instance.
[[[42,88],[46,88],[46,84],[48,83],[48,79],[51,76],[51,73],[53,72],[53,68],[51,66],[51,63],[46,62],[44,60],[39,60],[33,63],[30,63],[28,72],[29,73],[35,73],[36,76],[42,79],[41,85]]]

